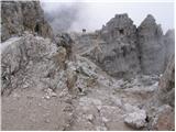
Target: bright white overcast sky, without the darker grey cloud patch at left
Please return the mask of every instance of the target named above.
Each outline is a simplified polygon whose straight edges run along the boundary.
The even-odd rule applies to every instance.
[[[72,31],[81,31],[84,28],[88,31],[101,29],[102,24],[106,24],[117,13],[128,13],[135,25],[140,25],[147,14],[153,14],[156,22],[162,24],[164,32],[174,29],[174,1],[172,0],[167,2],[164,0],[155,0],[155,2],[81,0],[81,3],[78,0],[51,0],[50,2],[41,0],[41,4],[45,12],[77,8],[77,19],[72,23]]]

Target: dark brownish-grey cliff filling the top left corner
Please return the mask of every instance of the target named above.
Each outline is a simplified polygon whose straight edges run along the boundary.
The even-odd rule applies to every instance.
[[[21,35],[23,31],[53,37],[52,29],[44,19],[38,1],[2,1],[1,14],[1,41]]]

